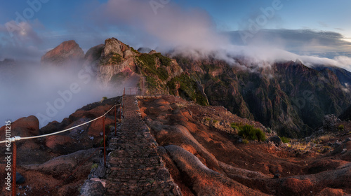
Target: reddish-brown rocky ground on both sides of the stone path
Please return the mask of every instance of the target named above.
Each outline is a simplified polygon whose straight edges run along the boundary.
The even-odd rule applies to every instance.
[[[41,129],[34,116],[21,118],[11,125],[12,134],[25,137],[72,127],[100,116],[120,101],[117,97],[89,104],[61,123],[49,123]],[[157,141],[157,154],[183,195],[351,193],[350,122],[326,116],[321,132],[283,144],[261,123],[240,118],[220,106],[200,106],[173,96],[140,97],[138,105],[141,118]],[[112,135],[113,119],[107,116],[106,123]],[[267,141],[240,137],[237,127],[241,125],[262,130]],[[0,132],[4,130],[1,127]],[[18,185],[18,193],[79,195],[88,176],[93,177],[91,171],[101,165],[101,132],[98,120],[65,134],[18,141],[18,172],[25,178]],[[1,162],[0,169],[4,167]]]

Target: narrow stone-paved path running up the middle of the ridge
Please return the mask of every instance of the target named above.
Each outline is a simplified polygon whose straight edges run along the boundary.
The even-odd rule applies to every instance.
[[[121,130],[108,146],[106,195],[182,195],[138,110],[135,96],[126,96]]]

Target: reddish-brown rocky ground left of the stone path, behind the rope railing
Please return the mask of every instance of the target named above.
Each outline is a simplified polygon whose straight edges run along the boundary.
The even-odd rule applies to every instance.
[[[120,97],[119,97],[120,98]],[[65,118],[61,123],[52,122],[39,129],[35,116],[20,118],[11,124],[11,137],[31,137],[64,130],[101,116],[121,99],[107,99],[84,106]],[[110,116],[111,115],[111,116]],[[114,129],[114,114],[106,118],[106,130]],[[5,126],[0,128],[0,140],[5,139]],[[91,169],[98,165],[102,156],[102,122],[94,121],[70,132],[17,141],[17,172],[25,178],[18,184],[19,195],[79,195]],[[1,148],[0,169],[5,171],[5,148]],[[6,176],[1,172],[0,183]],[[18,178],[16,178],[18,179]],[[1,186],[2,193],[8,193]],[[10,194],[9,194],[10,195]]]

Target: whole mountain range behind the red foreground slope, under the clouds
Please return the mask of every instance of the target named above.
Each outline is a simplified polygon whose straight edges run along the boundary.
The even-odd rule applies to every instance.
[[[147,53],[109,38],[83,57],[75,41],[66,41],[46,53],[41,63],[80,59],[80,66],[89,68],[103,85],[145,86],[149,94],[224,106],[292,138],[309,136],[322,126],[326,114],[340,116],[351,105],[351,73],[345,69],[310,68],[298,59],[258,63],[245,57],[233,57],[236,64],[231,65],[211,54],[195,58],[140,51]]]

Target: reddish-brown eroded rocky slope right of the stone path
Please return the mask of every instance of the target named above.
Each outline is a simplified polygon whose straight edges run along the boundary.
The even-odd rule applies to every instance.
[[[197,106],[175,97],[139,102],[141,115],[165,148],[164,160],[173,179],[186,190],[184,195],[351,193],[350,123],[340,121],[334,126],[345,125],[344,130],[307,138],[314,146],[328,146],[329,151],[317,147],[302,151],[296,144],[309,146],[305,139],[286,145],[282,141],[244,144],[234,130],[227,130],[230,123],[265,129],[221,107]],[[214,123],[206,123],[208,119]]]

